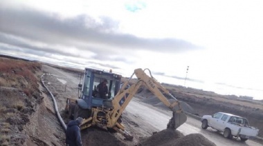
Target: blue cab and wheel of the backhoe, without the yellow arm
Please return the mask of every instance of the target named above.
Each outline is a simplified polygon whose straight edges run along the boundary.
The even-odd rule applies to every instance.
[[[78,85],[80,95],[78,99],[67,98],[66,111],[69,112],[69,118],[76,119],[78,116],[89,118],[92,108],[112,108],[112,98],[120,90],[121,75],[85,68],[82,84]],[[101,98],[98,94],[98,85],[107,80],[107,99]],[[75,104],[76,103],[76,104]]]

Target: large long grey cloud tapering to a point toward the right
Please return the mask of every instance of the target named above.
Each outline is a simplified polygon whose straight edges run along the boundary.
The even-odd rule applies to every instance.
[[[131,34],[114,33],[118,22],[101,17],[96,23],[88,15],[71,19],[60,19],[57,14],[47,14],[30,8],[12,9],[0,6],[0,31],[6,34],[26,37],[48,44],[73,45],[76,43],[109,45],[123,50],[152,50],[156,52],[180,52],[198,47],[178,39],[143,39]],[[87,45],[88,46],[88,45]],[[82,48],[93,52],[113,49]]]

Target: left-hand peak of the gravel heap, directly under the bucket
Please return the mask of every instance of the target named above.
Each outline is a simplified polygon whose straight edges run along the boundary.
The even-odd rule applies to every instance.
[[[163,129],[161,132],[150,136],[140,142],[140,145],[166,145],[174,139],[183,137],[183,134],[177,130],[173,129]]]

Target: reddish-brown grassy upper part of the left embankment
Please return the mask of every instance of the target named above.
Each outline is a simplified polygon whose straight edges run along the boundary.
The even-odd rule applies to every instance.
[[[42,101],[36,72],[39,63],[0,58],[0,145],[26,141],[25,125]]]

